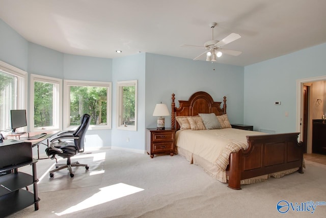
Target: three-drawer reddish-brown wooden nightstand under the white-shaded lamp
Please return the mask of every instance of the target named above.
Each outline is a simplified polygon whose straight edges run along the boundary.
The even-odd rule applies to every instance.
[[[166,128],[165,130],[156,130],[156,128],[146,129],[146,150],[151,158],[154,154],[174,155],[174,139],[176,130]]]

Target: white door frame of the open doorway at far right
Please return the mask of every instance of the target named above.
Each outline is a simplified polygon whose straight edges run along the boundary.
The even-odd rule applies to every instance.
[[[303,84],[304,83],[312,83],[312,82],[318,82],[326,80],[326,76],[320,76],[320,77],[310,77],[305,79],[298,79],[296,80],[296,131],[300,132],[299,140],[302,141],[303,138],[303,126],[301,125],[302,118],[303,118]],[[310,108],[308,108],[310,111]],[[308,143],[310,141],[310,137],[308,134],[307,138],[307,154],[312,153],[312,147],[311,143]]]

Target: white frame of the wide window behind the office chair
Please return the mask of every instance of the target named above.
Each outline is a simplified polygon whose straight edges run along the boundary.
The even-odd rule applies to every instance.
[[[63,81],[63,101],[64,101],[64,117],[63,124],[64,130],[72,130],[76,126],[70,126],[70,88],[69,86],[97,86],[106,87],[106,125],[90,125],[89,130],[104,130],[112,128],[112,82],[98,82],[86,80],[64,80]]]

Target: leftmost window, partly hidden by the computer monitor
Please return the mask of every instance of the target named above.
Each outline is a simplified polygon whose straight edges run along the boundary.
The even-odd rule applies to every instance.
[[[27,76],[27,72],[0,61],[0,132],[11,130],[10,110],[26,109]]]

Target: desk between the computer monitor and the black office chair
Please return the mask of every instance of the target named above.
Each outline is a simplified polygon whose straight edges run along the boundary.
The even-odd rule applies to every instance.
[[[33,136],[33,135],[38,135],[41,134],[42,132],[46,132],[47,134],[44,135],[42,138],[38,138],[38,139],[28,139],[29,136]],[[29,133],[23,133],[23,134],[13,134],[13,135],[8,135],[10,137],[15,137],[15,138],[19,138],[22,141],[25,142],[31,142],[32,143],[32,147],[34,148],[35,146],[37,146],[37,159],[46,159],[46,158],[40,158],[40,144],[44,144],[45,146],[49,147],[49,138],[52,137],[53,135],[56,135],[57,133],[59,133],[59,131],[42,131],[42,132],[29,132]],[[20,137],[21,135],[28,135],[27,137]],[[43,141],[46,140],[46,143],[43,143]]]

